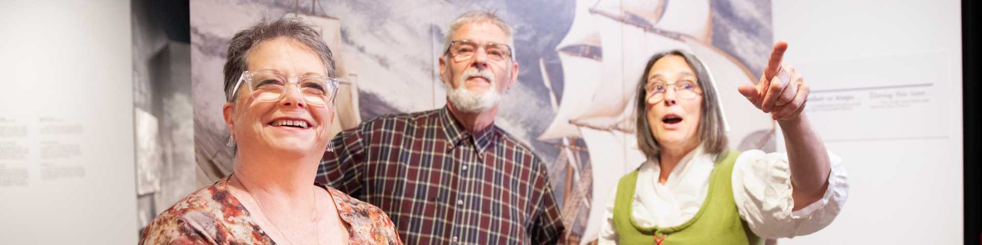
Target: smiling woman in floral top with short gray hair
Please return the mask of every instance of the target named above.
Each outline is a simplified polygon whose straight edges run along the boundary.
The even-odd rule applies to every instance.
[[[333,150],[334,69],[331,50],[299,18],[236,33],[222,108],[235,172],[164,211],[140,244],[402,244],[377,207],[314,182]]]

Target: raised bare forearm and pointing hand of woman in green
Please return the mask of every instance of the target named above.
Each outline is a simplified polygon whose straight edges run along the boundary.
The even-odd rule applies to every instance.
[[[794,211],[821,200],[829,186],[831,164],[822,137],[804,114],[809,88],[791,65],[782,65],[788,42],[778,41],[757,85],[740,84],[738,90],[757,109],[770,113],[784,132],[791,165]]]

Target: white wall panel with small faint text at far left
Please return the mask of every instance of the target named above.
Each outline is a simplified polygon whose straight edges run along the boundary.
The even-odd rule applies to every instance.
[[[128,0],[0,2],[0,123],[27,128],[0,142],[28,150],[0,165],[29,176],[0,186],[0,244],[136,243],[130,25]],[[76,172],[41,177],[60,167]]]

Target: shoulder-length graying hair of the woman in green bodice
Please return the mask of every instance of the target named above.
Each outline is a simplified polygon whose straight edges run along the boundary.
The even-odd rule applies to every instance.
[[[648,123],[647,111],[645,110],[647,108],[647,91],[644,89],[644,85],[648,83],[648,73],[651,72],[651,67],[659,59],[667,56],[681,56],[685,59],[688,67],[692,69],[692,72],[695,73],[696,83],[702,89],[699,141],[702,141],[701,144],[705,147],[706,152],[711,154],[722,153],[727,149],[727,133],[726,128],[724,128],[723,113],[720,112],[719,95],[717,95],[716,89],[713,88],[713,82],[715,81],[709,78],[709,73],[699,59],[688,52],[678,49],[655,54],[648,60],[648,64],[644,67],[644,73],[641,73],[641,79],[637,83],[637,108],[634,110],[634,114],[637,116],[636,122],[634,123],[637,126],[636,130],[634,130],[634,136],[637,137],[637,148],[648,159],[658,158],[659,154],[661,154],[661,145],[655,140],[655,136],[652,135],[651,126]]]

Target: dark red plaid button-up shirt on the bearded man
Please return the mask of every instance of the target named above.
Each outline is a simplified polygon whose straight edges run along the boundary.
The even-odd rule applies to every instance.
[[[501,128],[468,133],[447,107],[341,132],[317,181],[381,208],[406,244],[555,244],[564,227],[542,161]]]

